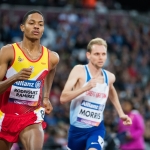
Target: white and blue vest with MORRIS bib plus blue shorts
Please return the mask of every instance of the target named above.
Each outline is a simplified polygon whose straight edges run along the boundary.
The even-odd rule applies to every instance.
[[[86,74],[85,86],[91,79],[88,65],[84,66]],[[86,91],[73,99],[70,106],[70,129],[68,134],[69,150],[102,150],[105,127],[103,111],[109,93],[108,75],[101,69],[104,83]]]

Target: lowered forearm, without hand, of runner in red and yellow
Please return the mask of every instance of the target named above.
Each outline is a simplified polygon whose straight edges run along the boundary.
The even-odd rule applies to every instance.
[[[44,98],[49,99],[49,94],[50,94],[50,90],[51,90],[51,87],[52,87],[55,72],[56,72],[56,68],[51,70],[45,78],[45,81],[44,81],[44,94],[43,94]]]

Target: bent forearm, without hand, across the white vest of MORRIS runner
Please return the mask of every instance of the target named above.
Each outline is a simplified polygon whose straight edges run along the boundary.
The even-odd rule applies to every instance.
[[[82,87],[80,89],[73,91],[63,91],[60,97],[60,102],[62,104],[70,102],[80,94],[84,93],[85,91],[87,91],[86,87]]]

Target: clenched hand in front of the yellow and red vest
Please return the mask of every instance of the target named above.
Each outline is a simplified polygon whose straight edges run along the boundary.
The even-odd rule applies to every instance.
[[[16,81],[28,80],[32,73],[32,68],[23,68],[19,73],[15,74]]]

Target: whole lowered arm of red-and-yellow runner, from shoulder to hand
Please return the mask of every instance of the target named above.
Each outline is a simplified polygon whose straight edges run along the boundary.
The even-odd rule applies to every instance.
[[[57,53],[49,51],[49,55],[50,55],[49,57],[50,70],[44,81],[44,94],[43,94],[43,105],[45,107],[46,114],[49,114],[53,109],[49,101],[49,93],[55,76],[56,66],[59,62],[59,56]]]

